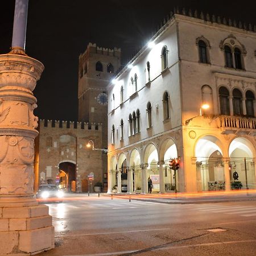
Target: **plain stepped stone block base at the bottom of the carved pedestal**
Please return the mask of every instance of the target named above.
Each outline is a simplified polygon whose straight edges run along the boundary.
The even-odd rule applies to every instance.
[[[1,255],[31,255],[54,248],[52,216],[46,205],[0,207]]]

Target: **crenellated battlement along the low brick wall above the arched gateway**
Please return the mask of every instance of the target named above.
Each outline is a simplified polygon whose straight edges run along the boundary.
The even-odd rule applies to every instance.
[[[102,131],[102,123],[86,123],[86,122],[61,121],[61,120],[59,121],[59,120],[48,120],[48,119],[40,119],[39,123],[40,123],[40,126],[49,127],[49,128]]]

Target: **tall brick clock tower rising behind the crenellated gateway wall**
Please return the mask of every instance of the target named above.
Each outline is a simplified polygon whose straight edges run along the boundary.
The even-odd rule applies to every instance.
[[[79,121],[102,123],[102,147],[108,147],[108,94],[106,86],[121,66],[121,49],[89,43],[79,56]]]

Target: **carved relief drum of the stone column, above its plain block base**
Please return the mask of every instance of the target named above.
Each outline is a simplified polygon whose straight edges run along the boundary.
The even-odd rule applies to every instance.
[[[33,193],[34,139],[0,137],[0,193]]]

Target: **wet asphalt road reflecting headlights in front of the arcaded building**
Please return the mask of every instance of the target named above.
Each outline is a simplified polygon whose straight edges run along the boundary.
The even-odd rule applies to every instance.
[[[48,206],[56,247],[39,255],[256,255],[256,201],[163,204],[85,195]]]

